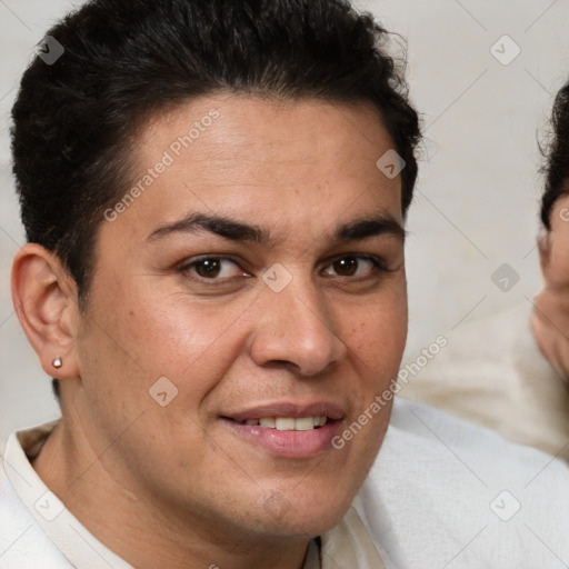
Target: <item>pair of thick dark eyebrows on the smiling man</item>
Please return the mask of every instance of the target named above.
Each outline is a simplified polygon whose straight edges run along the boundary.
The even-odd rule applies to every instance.
[[[191,213],[167,226],[160,226],[147,237],[149,241],[163,239],[172,233],[206,230],[231,241],[248,241],[261,246],[271,246],[274,239],[269,230],[259,226],[243,223],[223,216]],[[358,241],[380,234],[391,234],[405,241],[406,231],[391,216],[381,212],[376,216],[350,221],[337,228],[331,241]]]

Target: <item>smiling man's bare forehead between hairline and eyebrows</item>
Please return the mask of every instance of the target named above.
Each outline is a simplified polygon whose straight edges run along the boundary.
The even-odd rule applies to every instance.
[[[376,166],[392,146],[368,104],[203,97],[141,129],[131,157],[136,200],[118,226],[148,230],[192,209],[274,227],[317,228],[350,209],[382,209],[400,221],[400,177]]]

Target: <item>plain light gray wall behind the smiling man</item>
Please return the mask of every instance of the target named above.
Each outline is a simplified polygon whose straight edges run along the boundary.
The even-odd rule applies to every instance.
[[[411,96],[427,137],[408,221],[411,353],[470,319],[528,302],[539,289],[537,140],[546,131],[552,96],[569,78],[569,4],[356,4],[407,38]],[[0,436],[58,413],[49,378],[10,299],[11,260],[23,232],[8,129],[19,77],[34,44],[72,6],[64,0],[0,0]],[[490,51],[505,34],[521,49],[508,66]],[[497,48],[505,52],[501,57],[512,53],[503,41]],[[507,292],[491,280],[502,263],[520,277]]]

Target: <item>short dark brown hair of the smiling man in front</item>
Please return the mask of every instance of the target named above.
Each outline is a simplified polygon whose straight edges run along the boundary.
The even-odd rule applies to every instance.
[[[91,0],[47,38],[60,57],[39,53],[22,77],[13,172],[28,240],[62,260],[80,306],[103,212],[128,189],[137,128],[199,96],[371,103],[406,163],[407,212],[419,120],[389,34],[347,0]]]

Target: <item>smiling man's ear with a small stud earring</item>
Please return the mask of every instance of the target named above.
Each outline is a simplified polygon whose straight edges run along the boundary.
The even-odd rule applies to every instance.
[[[43,371],[58,379],[79,377],[77,286],[59,258],[37,243],[22,247],[12,266],[12,301]],[[58,368],[57,358],[62,361]]]

